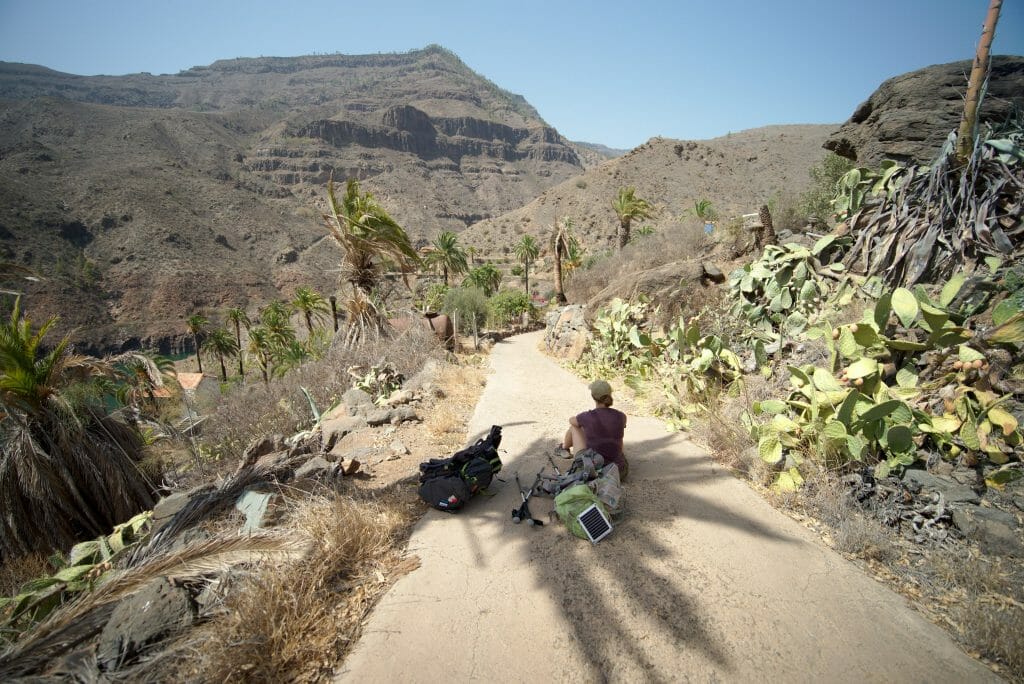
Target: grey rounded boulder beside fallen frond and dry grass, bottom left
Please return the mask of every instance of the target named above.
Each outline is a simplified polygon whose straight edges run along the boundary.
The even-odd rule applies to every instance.
[[[114,608],[96,644],[96,662],[106,672],[129,665],[193,618],[188,592],[158,578]]]

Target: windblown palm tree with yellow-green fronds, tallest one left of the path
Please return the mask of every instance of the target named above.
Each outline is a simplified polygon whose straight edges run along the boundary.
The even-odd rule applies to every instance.
[[[420,257],[409,236],[370,193],[360,194],[359,183],[349,178],[339,202],[334,194],[334,178],[328,181],[330,213],[324,215],[328,230],[344,250],[341,276],[352,286],[348,309],[348,342],[361,339],[369,331],[385,326],[371,293],[377,286],[383,262],[390,261],[401,270],[402,279],[420,264]],[[406,286],[409,286],[408,280]]]

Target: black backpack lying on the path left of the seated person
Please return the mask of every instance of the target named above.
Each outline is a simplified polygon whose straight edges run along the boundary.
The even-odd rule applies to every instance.
[[[457,511],[474,494],[490,486],[502,469],[498,446],[502,428],[493,425],[486,437],[456,452],[447,459],[430,459],[420,464],[420,499],[441,511]]]

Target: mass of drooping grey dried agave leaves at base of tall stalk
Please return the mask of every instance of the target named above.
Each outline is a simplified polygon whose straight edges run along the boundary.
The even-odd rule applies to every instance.
[[[910,167],[889,197],[849,220],[848,268],[888,285],[941,283],[988,257],[1024,258],[1024,127],[979,137],[961,166],[955,133],[932,167]]]

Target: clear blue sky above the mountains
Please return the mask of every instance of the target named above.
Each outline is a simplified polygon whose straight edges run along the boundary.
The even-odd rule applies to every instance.
[[[885,79],[969,59],[988,0],[0,0],[0,60],[73,74],[438,43],[574,140],[633,147],[841,123]],[[1024,0],[994,52],[1024,54]]]

